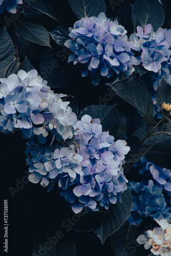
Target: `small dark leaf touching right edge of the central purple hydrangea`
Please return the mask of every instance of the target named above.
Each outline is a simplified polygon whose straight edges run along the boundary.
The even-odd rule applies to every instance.
[[[131,136],[126,142],[127,146],[131,148],[124,159],[127,163],[136,162],[148,151],[148,148],[145,148],[143,143],[136,136]]]

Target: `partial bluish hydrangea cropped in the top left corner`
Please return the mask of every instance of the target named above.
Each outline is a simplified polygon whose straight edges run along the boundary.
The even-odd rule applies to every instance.
[[[0,0],[0,13],[4,10],[10,13],[16,13],[16,6],[22,3],[23,0]]]

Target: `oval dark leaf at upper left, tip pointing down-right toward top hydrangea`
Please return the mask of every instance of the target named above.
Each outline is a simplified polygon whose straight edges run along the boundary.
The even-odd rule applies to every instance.
[[[41,46],[50,46],[49,33],[45,27],[35,22],[22,22],[17,20],[16,30],[24,39]]]

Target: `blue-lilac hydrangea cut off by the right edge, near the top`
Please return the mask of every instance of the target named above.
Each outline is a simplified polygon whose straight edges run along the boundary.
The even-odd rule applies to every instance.
[[[153,71],[152,81],[156,91],[157,84],[164,75],[171,82],[171,30],[159,28],[156,32],[151,24],[144,29],[137,27],[137,33],[130,35],[130,47],[141,51],[142,66]]]

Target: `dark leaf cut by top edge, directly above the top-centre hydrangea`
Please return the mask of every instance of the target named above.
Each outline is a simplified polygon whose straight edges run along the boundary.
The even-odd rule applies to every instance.
[[[69,0],[69,3],[78,19],[97,17],[100,12],[105,12],[104,0]]]

